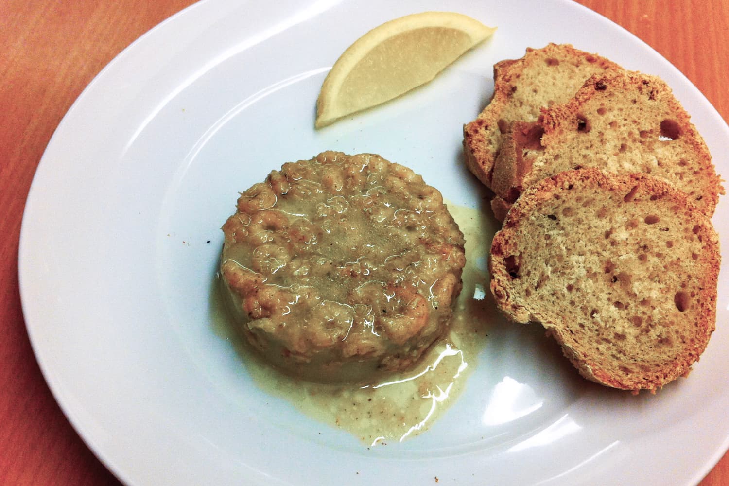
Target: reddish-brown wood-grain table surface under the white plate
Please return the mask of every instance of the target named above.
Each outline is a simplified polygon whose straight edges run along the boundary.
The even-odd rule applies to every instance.
[[[130,42],[192,0],[0,1],[0,484],[116,484],[53,399],[17,283],[20,219],[63,114]],[[729,121],[729,1],[580,0],[674,63]],[[725,174],[726,176],[726,174]],[[720,323],[726,324],[726,323]],[[697,440],[701,440],[697,438]],[[690,446],[690,444],[687,444]],[[729,484],[729,454],[701,482]]]

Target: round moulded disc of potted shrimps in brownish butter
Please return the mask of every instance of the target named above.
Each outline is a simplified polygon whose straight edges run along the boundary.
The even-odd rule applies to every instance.
[[[411,367],[448,330],[464,238],[437,189],[376,154],[287,162],[241,194],[220,274],[251,345],[291,375]]]

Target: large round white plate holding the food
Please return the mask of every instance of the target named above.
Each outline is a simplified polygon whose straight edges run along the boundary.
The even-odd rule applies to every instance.
[[[725,265],[717,332],[690,379],[658,396],[592,385],[539,326],[495,321],[442,420],[371,449],[252,383],[214,329],[211,279],[237,192],[323,149],[377,152],[454,203],[483,204],[461,163],[461,124],[488,100],[494,62],[528,46],[572,42],[660,75],[727,175],[729,129],[703,95],[634,36],[569,1],[240,3],[203,1],[122,52],[61,122],[28,196],[28,332],[55,398],[114,474],[136,485],[701,479],[728,446]],[[315,132],[316,95],[340,52],[385,20],[434,9],[499,30],[431,85]],[[728,211],[724,197],[714,218],[723,248]],[[494,408],[502,420],[482,420]]]

